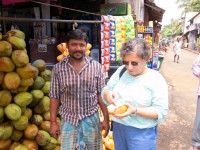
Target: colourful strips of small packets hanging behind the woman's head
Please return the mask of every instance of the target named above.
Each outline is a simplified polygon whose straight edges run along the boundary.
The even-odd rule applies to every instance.
[[[122,44],[135,37],[134,20],[127,16],[102,16],[101,24],[101,63],[108,71],[110,63],[119,62]]]

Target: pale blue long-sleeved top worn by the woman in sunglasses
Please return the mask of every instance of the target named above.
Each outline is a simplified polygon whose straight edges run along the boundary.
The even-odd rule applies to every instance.
[[[117,93],[118,101],[126,102],[136,108],[153,107],[158,113],[158,119],[148,119],[139,115],[129,115],[123,119],[112,117],[113,121],[133,126],[136,128],[151,128],[163,121],[168,112],[168,86],[163,76],[156,70],[148,71],[140,76],[132,76],[127,71],[119,79],[119,74],[124,66],[121,66],[112,75],[105,90]],[[104,103],[109,105],[103,99]]]

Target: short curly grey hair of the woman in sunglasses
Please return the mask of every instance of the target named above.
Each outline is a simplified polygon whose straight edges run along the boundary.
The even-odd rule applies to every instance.
[[[148,61],[151,56],[150,46],[144,39],[134,38],[126,41],[120,50],[122,59],[125,55],[136,53],[138,57]]]

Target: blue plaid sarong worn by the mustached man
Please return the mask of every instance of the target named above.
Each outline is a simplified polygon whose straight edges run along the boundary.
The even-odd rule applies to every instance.
[[[99,113],[85,117],[74,126],[62,119],[61,150],[102,150]]]

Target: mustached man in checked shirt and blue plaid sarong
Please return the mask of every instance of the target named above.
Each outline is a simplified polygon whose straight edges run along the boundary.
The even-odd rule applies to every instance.
[[[109,132],[109,116],[101,98],[105,86],[100,63],[85,56],[88,37],[79,29],[68,32],[69,56],[53,67],[50,86],[50,133],[61,133],[63,150],[100,150],[102,135],[98,107],[104,115],[101,124],[105,136]],[[56,122],[61,117],[61,130]]]

